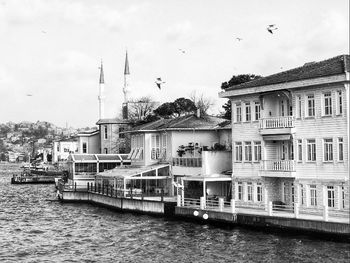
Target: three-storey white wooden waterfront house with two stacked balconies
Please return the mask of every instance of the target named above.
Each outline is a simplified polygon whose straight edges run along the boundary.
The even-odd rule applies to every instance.
[[[341,55],[220,93],[238,203],[349,211],[349,69]]]

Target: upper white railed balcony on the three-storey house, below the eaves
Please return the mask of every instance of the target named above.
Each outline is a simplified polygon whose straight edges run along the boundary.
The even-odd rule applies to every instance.
[[[295,133],[293,116],[263,118],[259,121],[261,135],[281,135]]]

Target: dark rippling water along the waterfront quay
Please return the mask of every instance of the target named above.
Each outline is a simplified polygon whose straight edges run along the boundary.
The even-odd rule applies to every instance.
[[[0,164],[0,262],[349,262],[350,244],[217,228],[88,204],[53,185],[11,185]]]

